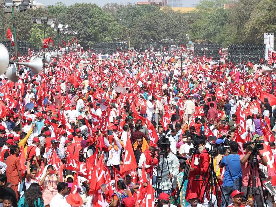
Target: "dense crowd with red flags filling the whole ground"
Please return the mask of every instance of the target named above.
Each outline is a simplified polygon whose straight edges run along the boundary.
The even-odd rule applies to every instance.
[[[210,61],[76,49],[3,74],[0,205],[276,206],[272,63]]]

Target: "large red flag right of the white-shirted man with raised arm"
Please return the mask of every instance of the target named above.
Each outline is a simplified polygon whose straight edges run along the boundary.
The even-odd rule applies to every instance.
[[[123,172],[126,172],[129,170],[135,169],[138,166],[137,166],[137,163],[135,162],[135,155],[133,152],[130,139],[126,140],[126,146],[124,149],[126,151],[123,158]]]

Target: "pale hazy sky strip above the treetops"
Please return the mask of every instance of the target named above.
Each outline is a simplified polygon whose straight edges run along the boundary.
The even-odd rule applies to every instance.
[[[64,2],[66,5],[70,5],[70,4],[75,4],[76,2],[91,2],[91,3],[96,3],[98,4],[99,6],[103,6],[105,5],[106,3],[126,3],[126,2],[132,2],[132,3],[136,3],[137,0],[94,0],[94,1],[89,1],[89,0],[81,0],[81,1],[75,1],[75,0],[36,0],[37,2],[40,2],[40,3],[45,3],[45,5],[52,5],[52,4],[55,4],[55,2]],[[147,1],[147,0],[138,0],[138,1]],[[197,2],[199,2],[199,0],[183,0],[183,6],[184,7],[193,7],[193,5],[191,4],[196,4]]]

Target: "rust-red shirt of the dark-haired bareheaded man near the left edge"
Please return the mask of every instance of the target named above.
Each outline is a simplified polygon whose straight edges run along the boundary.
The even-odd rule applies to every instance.
[[[12,185],[18,185],[18,182],[20,181],[18,171],[21,170],[21,164],[18,157],[16,155],[10,155],[7,158],[6,164],[7,182],[10,182]]]

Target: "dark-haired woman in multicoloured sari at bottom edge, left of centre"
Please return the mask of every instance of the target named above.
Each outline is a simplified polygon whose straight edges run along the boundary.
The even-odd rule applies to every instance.
[[[124,198],[132,197],[129,190],[126,190],[126,183],[123,180],[117,181],[117,192],[113,193],[111,201],[109,203],[110,207],[121,206],[122,200]]]

